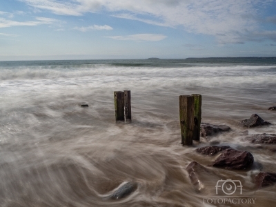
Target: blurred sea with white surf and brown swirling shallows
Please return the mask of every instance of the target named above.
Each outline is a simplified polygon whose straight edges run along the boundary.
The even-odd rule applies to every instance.
[[[115,120],[123,90],[126,123]],[[179,96],[191,94],[202,96],[201,122],[231,130],[181,145]],[[276,146],[243,134],[276,134],[271,106],[275,57],[0,61],[0,206],[276,206],[276,186],[255,189],[259,172],[276,172]],[[253,114],[272,124],[239,126]],[[250,152],[253,166],[210,167],[219,155],[195,149],[215,144]],[[208,169],[201,190],[192,161]],[[217,195],[230,179],[243,188]],[[137,189],[107,199],[127,182]]]

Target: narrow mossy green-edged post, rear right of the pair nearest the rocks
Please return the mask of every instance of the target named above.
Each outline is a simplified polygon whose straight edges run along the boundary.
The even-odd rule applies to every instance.
[[[194,128],[193,140],[199,141],[202,97],[200,94],[192,94],[192,96],[194,99],[194,117],[195,117],[195,128]]]

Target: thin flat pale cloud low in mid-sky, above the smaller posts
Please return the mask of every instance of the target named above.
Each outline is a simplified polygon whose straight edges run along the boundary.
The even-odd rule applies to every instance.
[[[108,37],[117,40],[132,40],[132,41],[161,41],[166,38],[163,34],[132,34],[126,36],[111,36]]]

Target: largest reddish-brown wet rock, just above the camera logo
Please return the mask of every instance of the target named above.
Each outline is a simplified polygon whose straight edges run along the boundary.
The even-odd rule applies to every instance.
[[[223,167],[226,169],[245,170],[253,165],[254,157],[250,152],[226,149],[214,161],[211,166]]]

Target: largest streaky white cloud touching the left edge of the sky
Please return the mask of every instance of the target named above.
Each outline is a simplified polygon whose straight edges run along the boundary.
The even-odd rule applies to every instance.
[[[51,24],[56,19],[50,19],[45,17],[36,17],[37,21],[12,21],[4,18],[0,18],[0,28],[9,28],[11,26],[37,26],[40,24]]]

